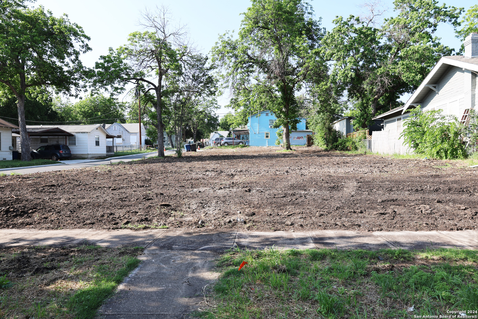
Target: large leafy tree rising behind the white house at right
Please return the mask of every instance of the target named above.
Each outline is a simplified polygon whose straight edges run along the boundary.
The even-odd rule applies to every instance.
[[[376,114],[400,106],[400,96],[412,93],[441,56],[452,54],[435,32],[441,23],[457,26],[463,11],[436,0],[395,0],[394,5],[396,16],[381,23],[338,17],[322,41],[326,59],[334,63],[332,84],[347,93],[363,127]]]

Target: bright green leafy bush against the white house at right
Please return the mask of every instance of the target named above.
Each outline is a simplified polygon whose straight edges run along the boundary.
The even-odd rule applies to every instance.
[[[417,108],[410,112],[403,126],[404,144],[417,154],[439,159],[467,157],[462,143],[465,128],[455,116],[442,115],[442,110],[422,112]]]

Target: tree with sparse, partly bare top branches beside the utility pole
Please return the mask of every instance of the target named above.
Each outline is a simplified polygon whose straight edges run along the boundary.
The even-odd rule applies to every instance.
[[[182,62],[191,53],[184,26],[174,26],[173,22],[165,7],[157,8],[155,12],[144,11],[140,25],[145,31],[130,33],[128,44],[117,50],[110,48],[108,55],[100,56],[93,75],[93,84],[97,88],[119,93],[131,83],[140,86],[144,95],[154,93],[160,157],[164,157],[162,99],[165,80],[181,71]]]

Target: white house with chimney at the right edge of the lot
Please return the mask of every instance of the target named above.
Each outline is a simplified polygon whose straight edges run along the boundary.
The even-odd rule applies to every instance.
[[[406,154],[412,151],[402,145],[403,139],[399,136],[403,120],[416,107],[423,111],[443,110],[442,114],[454,115],[458,121],[467,122],[468,111],[476,105],[478,33],[468,35],[463,44],[465,54],[443,56],[403,107],[374,118],[382,119],[384,128],[382,132],[374,132],[372,152]]]

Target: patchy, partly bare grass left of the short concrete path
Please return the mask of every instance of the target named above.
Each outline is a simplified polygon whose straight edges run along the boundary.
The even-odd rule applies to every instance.
[[[135,269],[142,247],[40,246],[0,250],[0,271],[13,285],[0,288],[0,317],[89,319]],[[1,277],[0,277],[1,278]]]

